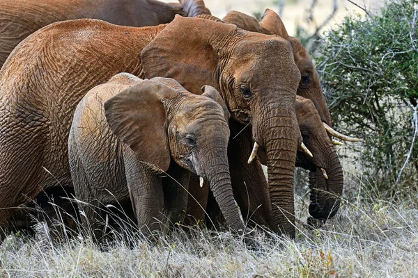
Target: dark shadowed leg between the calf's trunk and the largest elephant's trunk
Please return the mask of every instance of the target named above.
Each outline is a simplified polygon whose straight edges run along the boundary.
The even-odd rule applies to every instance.
[[[247,163],[254,145],[251,129],[244,129],[244,125],[236,122],[230,122],[230,127],[228,158],[233,196],[240,206],[244,221],[250,220],[249,222],[270,227],[269,186],[263,168],[258,158],[251,164]]]

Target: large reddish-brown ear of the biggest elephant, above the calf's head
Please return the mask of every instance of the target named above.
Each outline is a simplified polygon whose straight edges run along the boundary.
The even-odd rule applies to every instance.
[[[237,26],[213,20],[176,16],[141,51],[144,75],[176,79],[186,90],[201,95],[203,85],[217,88],[219,57],[229,50]]]

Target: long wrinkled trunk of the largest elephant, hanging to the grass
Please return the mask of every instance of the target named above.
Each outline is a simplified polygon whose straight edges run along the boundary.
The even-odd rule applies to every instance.
[[[268,166],[268,183],[272,204],[273,231],[295,236],[295,207],[293,181],[297,143],[300,136],[294,106],[265,105],[260,126],[253,124],[254,139],[265,150]],[[256,115],[253,115],[254,120]],[[255,134],[254,134],[255,131]]]

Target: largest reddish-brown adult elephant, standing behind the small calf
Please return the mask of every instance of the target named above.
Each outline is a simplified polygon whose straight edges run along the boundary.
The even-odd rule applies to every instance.
[[[229,142],[231,182],[242,184],[245,165],[247,183],[269,188],[277,211],[272,229],[295,236],[293,176],[302,136],[294,108],[300,72],[291,44],[178,15],[142,28],[97,19],[57,22],[10,54],[0,70],[0,227],[42,188],[72,186],[68,135],[75,107],[119,72],[173,78],[197,95],[203,85],[218,90],[231,113],[230,129],[247,126]],[[267,155],[268,183],[258,158],[247,164],[254,141]]]

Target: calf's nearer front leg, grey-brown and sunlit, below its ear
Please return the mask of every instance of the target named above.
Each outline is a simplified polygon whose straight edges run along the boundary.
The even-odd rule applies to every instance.
[[[146,236],[153,231],[165,231],[162,224],[164,223],[162,179],[155,170],[150,169],[149,165],[139,161],[137,154],[130,147],[123,148],[123,161],[127,188],[139,229]]]

